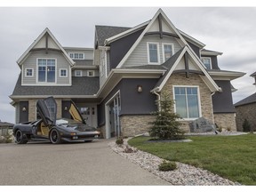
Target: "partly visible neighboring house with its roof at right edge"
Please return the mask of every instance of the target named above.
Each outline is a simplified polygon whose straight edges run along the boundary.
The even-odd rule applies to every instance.
[[[254,85],[256,85],[256,72],[251,75],[255,79]],[[256,131],[256,92],[246,97],[244,100],[240,100],[235,104],[236,108],[236,128],[237,131],[243,132],[244,120],[247,119],[251,125],[253,132]]]

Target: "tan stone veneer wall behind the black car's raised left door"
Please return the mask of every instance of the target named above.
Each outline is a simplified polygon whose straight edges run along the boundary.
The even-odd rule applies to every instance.
[[[37,100],[28,100],[28,121],[36,120],[36,102]],[[57,118],[61,118],[61,100],[56,100]]]

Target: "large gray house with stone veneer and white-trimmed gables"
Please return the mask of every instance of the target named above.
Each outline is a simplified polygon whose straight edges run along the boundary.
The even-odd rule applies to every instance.
[[[53,96],[58,117],[74,100],[104,138],[148,131],[156,100],[170,94],[173,110],[188,122],[204,116],[236,130],[230,81],[244,73],[220,70],[221,52],[175,28],[159,9],[134,28],[96,26],[94,48],[65,48],[46,28],[17,61],[12,95],[16,122],[36,118],[36,100]],[[221,48],[221,47],[220,47]]]

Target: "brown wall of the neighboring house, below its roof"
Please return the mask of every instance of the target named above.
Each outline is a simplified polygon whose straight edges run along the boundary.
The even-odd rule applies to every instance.
[[[256,103],[236,107],[236,128],[243,132],[244,119],[251,124],[252,131],[256,131]]]

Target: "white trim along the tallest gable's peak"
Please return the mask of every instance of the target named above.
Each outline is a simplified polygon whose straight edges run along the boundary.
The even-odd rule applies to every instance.
[[[154,23],[154,21],[157,19],[158,15],[162,14],[164,20],[166,20],[168,22],[168,24],[170,25],[170,27],[174,30],[174,32],[176,33],[177,36],[180,37],[181,42],[184,45],[188,45],[188,43],[185,41],[185,39],[180,35],[179,31],[177,30],[177,28],[174,27],[174,25],[172,24],[171,20],[168,19],[168,17],[165,15],[165,13],[163,12],[162,9],[159,9],[155,16],[152,18],[152,20],[150,20],[150,22],[148,23],[148,26],[144,29],[144,31],[140,34],[139,38],[136,40],[136,42],[134,44],[132,44],[131,49],[124,55],[123,60],[120,61],[120,63],[116,66],[116,68],[122,68],[122,66],[124,65],[124,62],[129,58],[129,56],[132,54],[132,52],[135,50],[135,48],[137,47],[138,44],[140,44],[141,39],[143,38],[143,36],[147,33],[148,29],[152,26],[152,24]]]

